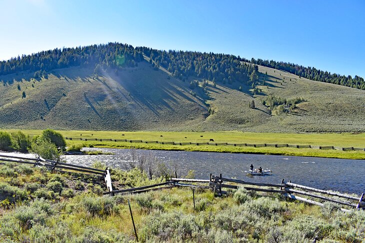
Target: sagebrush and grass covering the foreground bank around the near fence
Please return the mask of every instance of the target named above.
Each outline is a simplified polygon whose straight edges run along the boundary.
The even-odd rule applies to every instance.
[[[111,174],[118,189],[163,181],[137,169]],[[101,196],[102,178],[11,163],[0,165],[0,180],[0,242],[137,242],[127,200],[142,243],[360,243],[365,237],[363,210],[344,214],[333,204],[319,208],[278,194],[239,189],[215,197],[195,189],[194,209],[189,188]]]

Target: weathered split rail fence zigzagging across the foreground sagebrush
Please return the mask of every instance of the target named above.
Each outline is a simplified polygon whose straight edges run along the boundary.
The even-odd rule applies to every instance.
[[[172,187],[189,187],[189,188],[200,188],[200,189],[210,189],[217,196],[222,196],[227,194],[228,192],[225,189],[238,189],[238,187],[243,187],[248,191],[256,191],[256,192],[265,192],[265,193],[278,193],[283,197],[290,198],[293,200],[305,202],[308,204],[317,205],[323,207],[323,201],[332,202],[339,205],[345,205],[349,208],[354,209],[365,209],[365,195],[361,194],[358,196],[350,196],[337,192],[325,191],[321,189],[316,189],[312,187],[307,187],[295,183],[284,182],[281,180],[280,184],[275,183],[257,183],[257,182],[248,182],[243,180],[231,179],[219,176],[211,175],[209,176],[209,180],[200,180],[200,179],[185,179],[185,178],[170,178],[169,181],[158,183],[154,185],[148,185],[137,188],[127,188],[120,190],[113,190],[112,182],[110,177],[110,171],[108,168],[105,170],[99,170],[95,168],[72,165],[63,162],[57,162],[52,160],[45,160],[40,157],[38,158],[24,158],[19,156],[9,156],[9,155],[1,155],[0,161],[2,162],[13,162],[13,163],[22,163],[22,164],[30,164],[34,166],[44,166],[51,171],[62,172],[62,173],[89,173],[93,175],[102,176],[104,178],[107,192],[104,192],[104,195],[115,195],[115,194],[130,194],[130,193],[143,193],[148,191],[155,191],[161,189],[169,189]],[[175,173],[176,175],[176,173]],[[175,176],[177,177],[177,176]],[[193,183],[193,184],[192,184]],[[201,185],[205,184],[205,185]],[[305,196],[306,198],[300,197]],[[331,196],[331,197],[328,197]],[[316,199],[317,201],[313,200]],[[320,202],[318,202],[320,201]],[[342,209],[344,212],[349,212],[348,209]]]

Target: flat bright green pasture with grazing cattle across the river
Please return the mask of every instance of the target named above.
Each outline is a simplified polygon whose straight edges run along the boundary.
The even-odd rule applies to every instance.
[[[17,129],[6,130],[16,132]],[[41,130],[21,130],[25,134],[39,135]],[[87,139],[127,139],[160,142],[193,142],[203,143],[213,139],[214,143],[250,143],[250,144],[292,144],[312,146],[335,146],[365,148],[365,133],[243,133],[243,132],[117,132],[117,131],[59,131],[64,137]],[[124,134],[124,136],[122,136]],[[162,136],[162,137],[161,137]],[[202,137],[201,137],[202,136]],[[186,138],[185,138],[186,137]],[[84,143],[94,147],[139,148],[155,150],[187,150],[206,152],[252,153],[272,155],[293,155],[310,157],[327,157],[341,159],[365,159],[365,151],[337,151],[309,148],[272,148],[272,147],[233,147],[233,146],[196,146],[196,145],[162,145],[109,141],[67,140],[68,144]]]

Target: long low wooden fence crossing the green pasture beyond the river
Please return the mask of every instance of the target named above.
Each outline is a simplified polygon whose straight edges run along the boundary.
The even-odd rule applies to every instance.
[[[65,137],[67,140],[76,140],[76,141],[109,141],[109,142],[127,142],[127,143],[155,143],[155,144],[168,144],[168,145],[195,145],[195,146],[202,146],[202,145],[210,145],[210,146],[234,146],[234,147],[273,147],[273,148],[311,148],[311,149],[332,149],[332,150],[342,150],[342,151],[365,151],[365,148],[354,148],[354,147],[335,147],[335,146],[312,146],[312,145],[292,145],[292,144],[249,144],[249,143],[209,143],[209,142],[201,142],[201,143],[193,143],[193,142],[159,142],[159,141],[142,141],[142,140],[127,140],[127,139],[98,139],[98,138],[68,138]]]

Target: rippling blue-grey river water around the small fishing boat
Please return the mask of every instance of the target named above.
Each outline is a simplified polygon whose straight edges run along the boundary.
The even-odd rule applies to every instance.
[[[71,164],[90,166],[100,161],[108,167],[125,169],[132,158],[130,149],[84,148],[87,151],[102,150],[113,155],[66,155],[64,159]],[[153,155],[166,163],[180,175],[189,170],[195,171],[196,179],[208,179],[209,174],[235,177],[252,182],[292,183],[361,195],[365,192],[365,160],[345,160],[298,156],[231,154],[214,152],[137,150],[136,154]],[[345,153],[345,152],[344,152]],[[250,164],[254,168],[272,170],[270,176],[249,176],[244,173]]]

